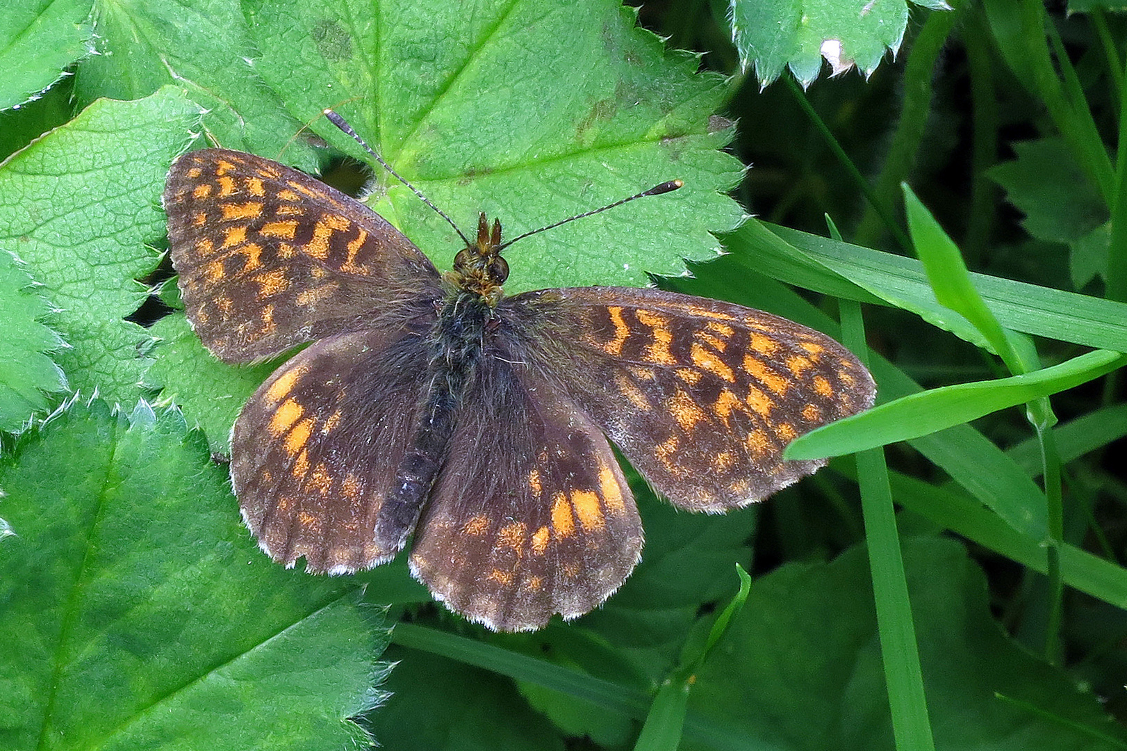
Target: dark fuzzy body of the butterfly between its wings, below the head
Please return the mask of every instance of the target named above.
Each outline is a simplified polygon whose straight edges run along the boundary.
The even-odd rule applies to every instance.
[[[381,548],[401,548],[418,521],[446,459],[458,405],[481,359],[489,317],[490,308],[481,295],[456,292],[427,335],[431,357],[426,373],[419,374],[427,386],[416,408],[410,448],[376,519],[375,542]]]

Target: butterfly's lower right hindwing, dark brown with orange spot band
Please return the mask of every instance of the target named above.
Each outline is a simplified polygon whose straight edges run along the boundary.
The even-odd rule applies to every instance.
[[[452,610],[504,631],[575,618],[633,569],[642,529],[610,444],[566,392],[482,361],[419,521],[410,566]]]

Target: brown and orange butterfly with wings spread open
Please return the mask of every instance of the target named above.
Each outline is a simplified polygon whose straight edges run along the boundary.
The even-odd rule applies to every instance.
[[[312,343],[231,433],[259,547],[346,574],[414,534],[412,575],[495,630],[582,616],[635,568],[611,444],[677,507],[722,512],[823,466],[782,450],[873,403],[848,350],[767,312],[656,289],[505,295],[485,214],[440,273],[360,202],[249,153],[180,157],[163,205],[207,350],[247,363]]]

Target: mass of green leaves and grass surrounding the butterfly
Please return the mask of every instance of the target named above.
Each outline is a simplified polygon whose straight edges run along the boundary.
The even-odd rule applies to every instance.
[[[720,5],[644,7],[665,45],[613,0],[6,9],[0,746],[356,748],[362,725],[392,749],[1124,748],[1127,25],[1099,2]],[[864,78],[816,81],[827,55]],[[722,516],[635,478],[637,572],[536,634],[467,625],[401,559],[272,564],[210,452],[275,363],[192,334],[159,196],[205,143],[363,158],[325,107],[463,229],[683,179],[522,241],[508,291],[656,274],[859,354],[860,303],[881,406],[793,451],[896,441],[888,467],[869,449]],[[763,220],[737,228],[742,178]],[[449,267],[409,191],[376,171],[367,202]]]

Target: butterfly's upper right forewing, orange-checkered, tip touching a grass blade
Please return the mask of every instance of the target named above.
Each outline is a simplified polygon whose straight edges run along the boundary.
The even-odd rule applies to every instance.
[[[636,288],[540,290],[502,301],[539,362],[674,504],[760,501],[825,460],[795,438],[872,406],[864,366],[826,335],[742,306]]]

